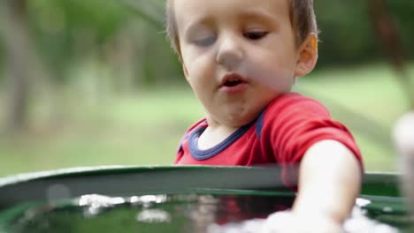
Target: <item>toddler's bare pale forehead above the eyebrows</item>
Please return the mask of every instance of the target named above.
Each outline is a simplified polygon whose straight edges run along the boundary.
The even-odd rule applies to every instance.
[[[289,16],[289,0],[173,0],[173,11],[180,27],[204,19],[230,19],[234,16],[263,16],[272,19]]]

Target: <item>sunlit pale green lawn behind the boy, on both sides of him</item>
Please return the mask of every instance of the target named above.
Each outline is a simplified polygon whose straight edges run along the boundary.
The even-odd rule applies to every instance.
[[[397,169],[388,135],[407,103],[387,66],[315,71],[299,79],[296,90],[322,101],[349,125],[366,169]],[[55,105],[50,98],[38,101],[30,132],[0,138],[0,177],[77,166],[171,164],[182,133],[203,116],[188,86],[95,101],[86,96],[70,90]],[[368,121],[358,120],[361,116]]]

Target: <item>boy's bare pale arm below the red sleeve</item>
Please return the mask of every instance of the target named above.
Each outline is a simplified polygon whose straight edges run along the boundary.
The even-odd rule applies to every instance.
[[[303,156],[293,212],[341,225],[355,205],[361,183],[361,166],[349,148],[335,140],[320,141]]]

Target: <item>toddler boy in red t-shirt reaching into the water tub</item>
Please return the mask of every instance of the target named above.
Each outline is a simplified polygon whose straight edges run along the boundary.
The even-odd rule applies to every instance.
[[[318,101],[290,92],[318,60],[312,0],[167,0],[166,14],[206,114],[186,132],[175,164],[277,163],[298,194],[268,230],[339,232],[359,193],[361,154]]]

